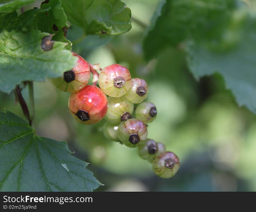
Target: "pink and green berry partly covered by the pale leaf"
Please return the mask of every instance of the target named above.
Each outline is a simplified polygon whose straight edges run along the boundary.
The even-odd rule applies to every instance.
[[[89,64],[82,57],[73,52],[78,58],[76,66],[63,73],[63,77],[52,79],[53,84],[61,91],[74,93],[86,86],[90,79]]]

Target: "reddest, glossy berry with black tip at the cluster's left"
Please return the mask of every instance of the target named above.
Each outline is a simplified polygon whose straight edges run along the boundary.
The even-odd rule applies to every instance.
[[[104,118],[108,103],[101,89],[94,85],[86,85],[77,93],[70,95],[68,107],[76,121],[88,125]]]

